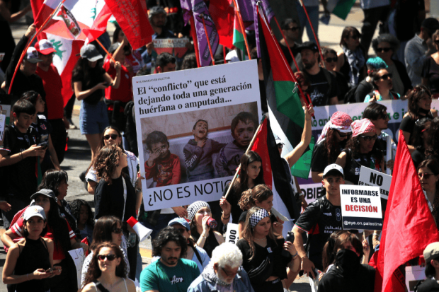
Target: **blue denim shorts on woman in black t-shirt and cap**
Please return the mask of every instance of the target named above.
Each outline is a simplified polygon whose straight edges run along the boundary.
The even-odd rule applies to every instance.
[[[107,105],[103,100],[97,105],[90,105],[83,100],[79,112],[81,134],[101,134],[108,126]]]

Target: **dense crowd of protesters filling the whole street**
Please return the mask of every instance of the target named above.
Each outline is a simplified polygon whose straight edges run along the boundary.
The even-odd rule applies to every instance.
[[[11,14],[9,2],[0,0],[3,26],[4,20],[15,21],[30,9]],[[311,286],[321,292],[350,291],[353,286],[372,291],[375,267],[369,262],[380,249],[380,231],[343,230],[340,186],[358,185],[362,167],[392,173],[394,156],[387,148],[396,148],[399,137],[386,132],[389,114],[381,101],[407,100],[399,129],[409,146],[423,197],[439,224],[439,117],[431,106],[439,96],[439,21],[426,18],[423,1],[408,2],[398,1],[392,14],[389,1],[362,0],[361,33],[352,26],[344,28],[338,52],[321,47],[320,54],[299,4],[300,17],[280,24],[285,35],[280,49],[312,102],[305,105],[301,100],[302,139],[283,157],[285,165],[279,165],[292,184],[290,168],[312,140],[313,107],[367,104],[360,119],[337,111],[324,126],[311,159],[311,178],[322,184],[323,195],[309,205],[300,194],[295,196],[302,212],[294,218],[288,236],[284,221],[273,212],[278,193],[264,182],[266,158],[246,151],[258,125],[248,112],[233,119],[232,143],[207,138],[209,124],[198,119],[193,139],[184,146],[188,182],[211,179],[214,169],[220,177],[228,177],[239,168],[238,177],[218,201],[144,210],[142,180],[152,179],[156,187],[176,185],[181,182],[181,168],[166,134],[154,131],[144,141],[149,158],[144,161],[144,177],[140,174],[132,78],[196,68],[191,42],[183,58],[166,52],[157,55],[154,42],[133,49],[116,26],[113,40],[106,34],[105,57],[94,42],[81,47],[72,72],[74,95],[65,108],[62,79],[52,64],[56,49],[49,40],[39,40],[24,52],[11,83],[35,25],[29,26],[16,46],[0,45],[0,51],[1,47],[8,50],[0,67],[1,90],[11,90],[18,97],[0,146],[0,209],[5,229],[0,239],[7,252],[2,279],[8,291],[276,292],[288,289],[299,274],[309,276]],[[317,30],[319,1],[304,0],[304,4]],[[409,21],[404,18],[411,19],[412,27],[406,27]],[[389,25],[389,19],[395,25]],[[380,35],[373,38],[379,21]],[[149,22],[153,40],[189,37],[187,28],[178,28],[161,6],[149,9]],[[302,42],[305,26],[310,41]],[[262,85],[268,76],[258,58],[256,37],[254,33],[246,37],[250,56],[238,48],[227,49],[227,54],[219,49],[215,62],[257,59]],[[370,45],[376,57],[368,56]],[[261,108],[269,119],[265,86],[260,88]],[[69,119],[75,98],[81,100],[79,128],[91,150],[89,167],[80,178],[94,196],[94,211],[82,199],[67,201],[68,175],[60,166],[66,129],[76,128]],[[277,146],[282,153],[283,144]],[[215,165],[213,153],[219,157]],[[237,157],[233,161],[231,153]],[[384,216],[386,202],[382,211]],[[152,229],[153,258],[144,269],[139,235],[127,224],[131,217]],[[236,244],[224,240],[229,223],[238,225]],[[429,279],[418,291],[437,289],[432,279],[439,279],[438,245],[428,245],[424,251]],[[81,279],[69,256],[69,250],[76,248],[87,253]]]

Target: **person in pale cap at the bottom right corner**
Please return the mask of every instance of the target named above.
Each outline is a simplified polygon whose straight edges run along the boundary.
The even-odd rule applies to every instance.
[[[418,286],[418,292],[438,291],[439,289],[439,243],[430,243],[423,250],[426,260],[426,281]]]

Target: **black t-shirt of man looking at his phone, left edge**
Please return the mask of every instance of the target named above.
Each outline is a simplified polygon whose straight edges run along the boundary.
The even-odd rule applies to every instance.
[[[14,125],[8,125],[4,130],[3,146],[0,146],[0,150],[8,151],[8,156],[12,156],[38,143],[38,134],[33,127],[29,127],[28,132],[21,133]],[[8,187],[2,188],[2,192],[13,194],[24,202],[30,203],[30,196],[36,192],[38,187],[35,175],[36,163],[37,158],[31,156],[5,166],[6,180],[4,181]]]

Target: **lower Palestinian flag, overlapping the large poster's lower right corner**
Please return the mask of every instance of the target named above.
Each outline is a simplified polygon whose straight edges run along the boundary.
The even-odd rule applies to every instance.
[[[270,121],[263,119],[256,139],[251,147],[262,158],[263,180],[273,191],[273,207],[290,219],[284,223],[283,235],[292,229],[293,221],[300,216],[295,194],[292,190],[291,176],[288,173],[288,163],[281,158],[278,151],[277,141],[271,132]]]

